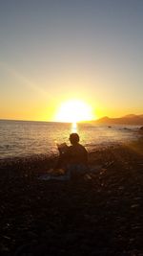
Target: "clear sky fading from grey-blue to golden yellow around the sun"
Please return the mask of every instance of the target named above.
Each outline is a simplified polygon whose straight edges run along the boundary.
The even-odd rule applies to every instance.
[[[0,0],[0,119],[143,114],[142,0]]]

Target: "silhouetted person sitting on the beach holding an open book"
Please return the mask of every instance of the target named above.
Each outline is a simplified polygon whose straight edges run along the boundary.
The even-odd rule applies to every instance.
[[[72,144],[70,147],[66,144],[58,147],[60,155],[56,165],[56,168],[65,169],[69,178],[74,172],[83,174],[88,170],[88,151],[79,144],[79,135],[72,133],[70,142]]]

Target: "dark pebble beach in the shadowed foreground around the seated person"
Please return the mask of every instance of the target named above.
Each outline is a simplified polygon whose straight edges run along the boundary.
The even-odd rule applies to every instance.
[[[91,152],[95,173],[38,180],[53,162],[1,163],[0,255],[143,255],[143,140]]]

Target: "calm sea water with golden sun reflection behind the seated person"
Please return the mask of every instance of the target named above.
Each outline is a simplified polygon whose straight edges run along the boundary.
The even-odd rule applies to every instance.
[[[0,159],[34,154],[57,154],[56,143],[69,143],[69,134],[77,131],[80,142],[92,151],[98,146],[126,142],[137,137],[136,126],[93,126],[0,120]]]

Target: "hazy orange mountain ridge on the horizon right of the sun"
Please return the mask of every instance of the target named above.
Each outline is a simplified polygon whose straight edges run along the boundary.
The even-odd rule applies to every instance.
[[[126,115],[120,118],[103,117],[93,121],[94,124],[101,125],[138,125],[143,126],[143,115]]]

